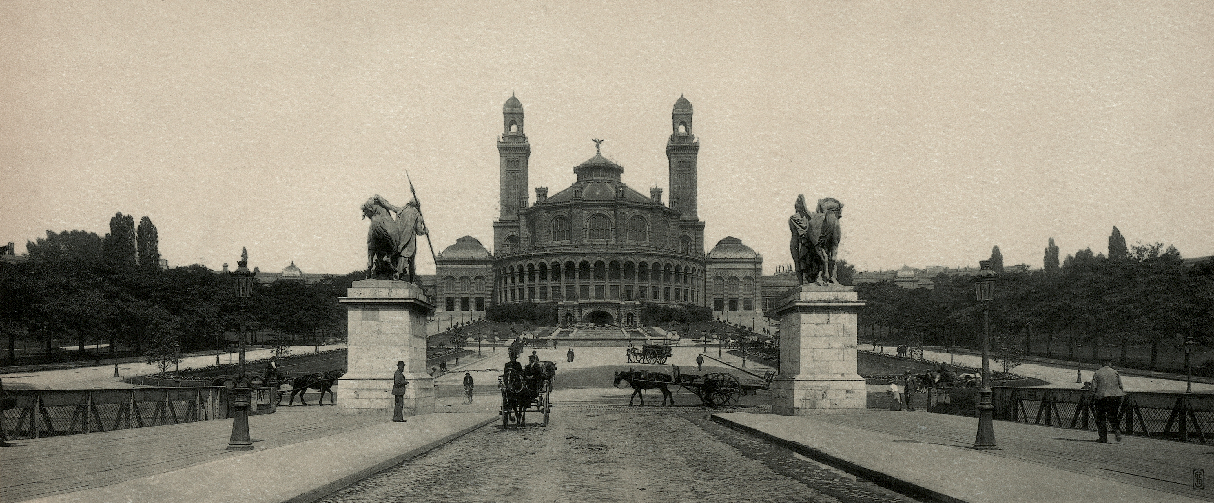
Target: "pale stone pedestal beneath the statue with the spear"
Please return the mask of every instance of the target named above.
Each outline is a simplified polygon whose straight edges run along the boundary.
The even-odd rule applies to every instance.
[[[435,379],[426,372],[426,316],[435,307],[408,281],[354,281],[340,298],[346,305],[350,347],[346,375],[337,385],[342,413],[392,416],[392,375],[404,361],[409,387],[405,416],[435,412]]]

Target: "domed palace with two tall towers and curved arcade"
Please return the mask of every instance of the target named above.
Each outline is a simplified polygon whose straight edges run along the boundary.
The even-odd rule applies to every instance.
[[[680,97],[671,113],[665,201],[660,188],[642,194],[622,182],[624,166],[605,156],[596,139],[594,156],[573,167],[572,185],[551,195],[538,187],[531,202],[524,126],[523,105],[511,96],[498,138],[501,213],[493,223],[494,252],[464,236],[438,255],[439,309],[550,303],[560,322],[622,325],[640,321],[642,303],[759,309],[762,257],[734,238],[704,253],[691,102]]]

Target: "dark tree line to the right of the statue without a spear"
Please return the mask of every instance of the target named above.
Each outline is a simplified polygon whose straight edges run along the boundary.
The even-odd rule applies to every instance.
[[[1156,368],[1161,348],[1182,348],[1190,338],[1203,347],[1214,336],[1214,258],[1186,267],[1174,246],[1127,246],[1116,227],[1107,255],[1085,248],[1061,263],[1059,255],[1050,238],[1043,269],[1005,270],[999,247],[992,250],[991,267],[999,273],[992,351],[1005,367],[1026,354],[1062,356],[1051,348],[1065,343],[1068,359],[1095,361],[1111,350],[1121,365]],[[981,348],[982,307],[969,276],[940,274],[931,290],[891,282],[856,290],[868,301],[860,315],[862,333],[874,341]],[[1043,337],[1045,348],[1034,348]],[[1148,354],[1130,350],[1139,345]]]

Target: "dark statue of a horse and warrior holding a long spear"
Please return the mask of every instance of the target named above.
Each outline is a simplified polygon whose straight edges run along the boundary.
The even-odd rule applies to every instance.
[[[392,218],[392,213],[396,218]],[[416,198],[404,206],[393,206],[380,195],[363,204],[363,218],[371,219],[367,230],[367,278],[390,276],[409,282],[416,276],[418,236],[429,234]],[[388,273],[391,270],[391,274]]]

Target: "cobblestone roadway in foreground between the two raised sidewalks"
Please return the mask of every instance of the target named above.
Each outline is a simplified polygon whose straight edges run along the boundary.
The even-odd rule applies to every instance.
[[[691,407],[565,406],[481,428],[362,480],[351,502],[910,502]]]

